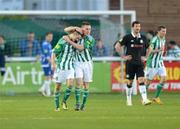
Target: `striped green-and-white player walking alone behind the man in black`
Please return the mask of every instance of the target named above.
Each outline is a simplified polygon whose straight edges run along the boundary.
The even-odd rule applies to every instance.
[[[148,87],[150,85],[156,75],[160,76],[160,82],[157,85],[155,97],[153,98],[153,102],[157,104],[162,104],[159,95],[166,81],[166,68],[163,63],[163,53],[166,42],[165,35],[166,27],[159,26],[158,33],[151,40],[147,52],[146,86]]]

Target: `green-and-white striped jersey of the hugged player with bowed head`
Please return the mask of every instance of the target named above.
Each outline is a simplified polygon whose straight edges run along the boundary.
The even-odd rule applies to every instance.
[[[63,38],[58,41],[52,52],[56,54],[57,69],[70,70],[74,68],[75,49]]]

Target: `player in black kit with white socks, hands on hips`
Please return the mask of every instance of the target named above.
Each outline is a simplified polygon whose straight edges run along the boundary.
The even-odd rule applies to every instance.
[[[125,55],[122,56],[126,60],[126,78],[128,84],[126,87],[127,106],[132,106],[132,82],[136,75],[139,83],[139,91],[142,96],[142,104],[149,105],[151,101],[147,98],[146,86],[144,84],[144,55],[148,42],[145,36],[140,34],[141,24],[139,21],[132,23],[132,32],[125,35],[119,40],[115,48],[125,47]],[[120,49],[116,49],[118,53],[122,53]]]

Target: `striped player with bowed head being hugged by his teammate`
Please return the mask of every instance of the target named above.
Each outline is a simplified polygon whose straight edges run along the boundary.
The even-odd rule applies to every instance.
[[[76,42],[81,38],[82,31],[73,31],[68,37]],[[55,71],[55,111],[59,111],[59,97],[61,84],[66,82],[67,89],[63,98],[63,109],[68,109],[66,100],[70,96],[74,80],[74,54],[75,49],[61,38],[53,49],[52,67]]]

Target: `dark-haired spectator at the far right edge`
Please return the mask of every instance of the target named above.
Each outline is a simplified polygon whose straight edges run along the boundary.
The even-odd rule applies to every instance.
[[[167,45],[167,56],[169,57],[180,57],[180,48],[176,42],[171,40]]]

